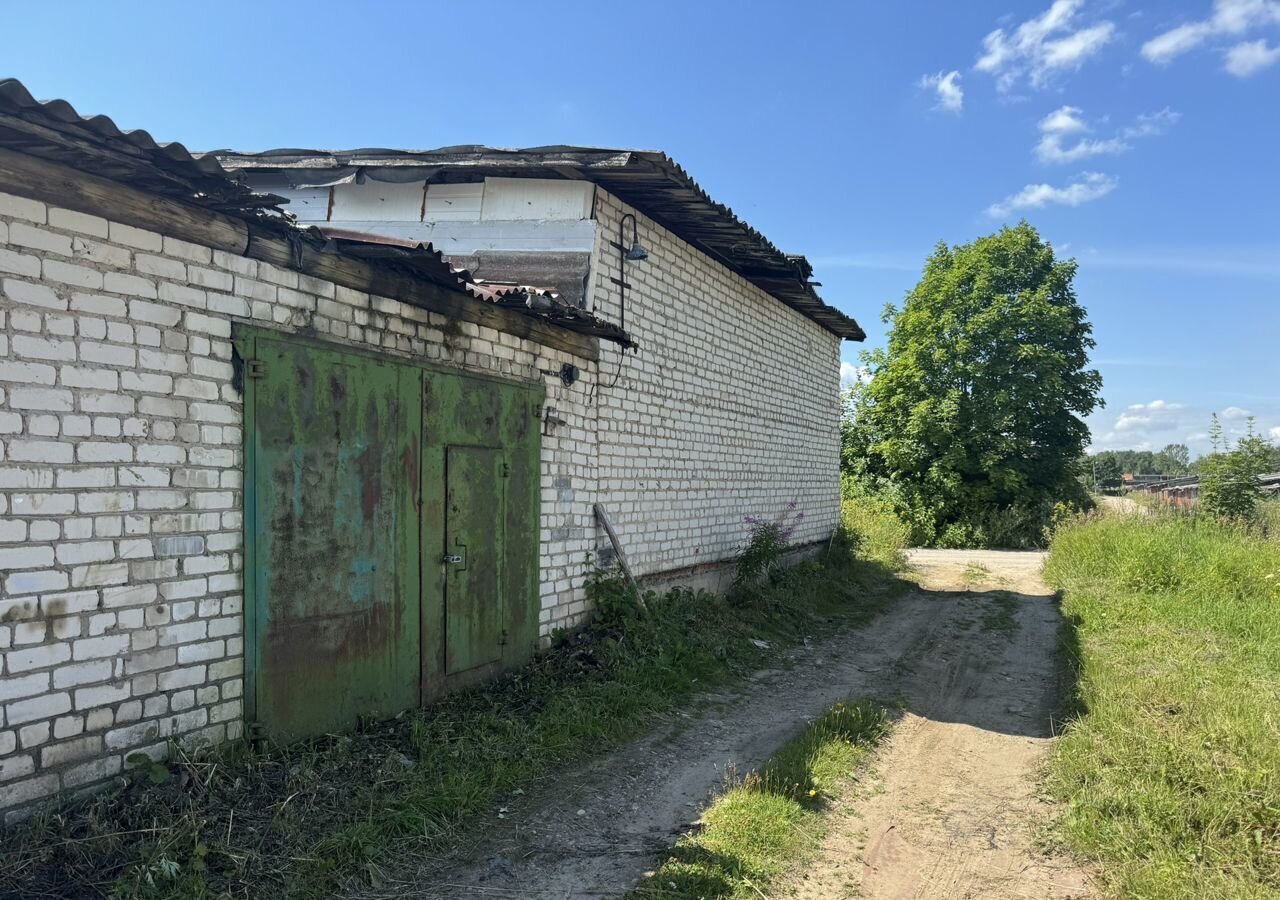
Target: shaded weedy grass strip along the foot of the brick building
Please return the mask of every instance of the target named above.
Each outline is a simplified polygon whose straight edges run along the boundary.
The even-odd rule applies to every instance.
[[[376,883],[695,691],[873,617],[897,584],[886,534],[841,531],[822,558],[732,597],[650,595],[648,617],[598,579],[590,626],[483,689],[355,735],[179,755],[44,808],[0,832],[0,897],[310,900]]]

